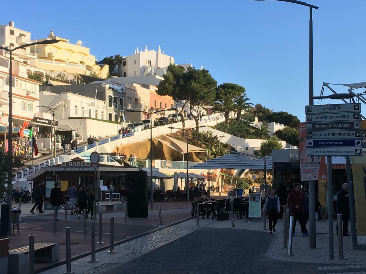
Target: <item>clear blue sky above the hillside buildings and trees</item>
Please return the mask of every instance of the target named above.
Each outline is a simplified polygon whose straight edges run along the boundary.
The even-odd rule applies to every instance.
[[[177,64],[202,64],[219,84],[244,86],[253,103],[304,120],[309,101],[307,7],[273,0],[40,3],[3,3],[0,24],[14,21],[32,38],[44,38],[52,28],[72,43],[85,41],[96,58],[160,45]],[[313,10],[314,95],[320,94],[323,81],[366,81],[366,1],[309,3],[320,6]]]

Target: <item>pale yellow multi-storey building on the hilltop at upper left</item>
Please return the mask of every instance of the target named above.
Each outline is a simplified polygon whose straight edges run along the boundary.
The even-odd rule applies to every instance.
[[[90,54],[88,47],[82,46],[82,41],[79,40],[76,45],[72,44],[68,39],[55,36],[51,30],[48,38],[37,39],[37,42],[49,39],[57,39],[60,42],[32,47],[31,52],[35,53],[37,58],[31,61],[31,65],[45,69],[51,78],[66,81],[72,81],[76,74],[107,77],[108,65],[96,65],[95,56]]]

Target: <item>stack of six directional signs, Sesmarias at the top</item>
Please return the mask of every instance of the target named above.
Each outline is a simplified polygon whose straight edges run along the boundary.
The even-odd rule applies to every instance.
[[[361,103],[306,106],[308,156],[361,156]]]

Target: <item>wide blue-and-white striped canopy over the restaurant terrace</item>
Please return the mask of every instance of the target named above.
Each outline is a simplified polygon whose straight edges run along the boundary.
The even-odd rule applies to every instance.
[[[266,169],[272,169],[272,156],[265,157]],[[223,156],[216,157],[214,159],[199,163],[190,167],[190,169],[214,169],[214,168],[227,168],[234,170],[264,170],[263,159],[252,159],[249,157],[243,157],[236,154],[225,154]]]

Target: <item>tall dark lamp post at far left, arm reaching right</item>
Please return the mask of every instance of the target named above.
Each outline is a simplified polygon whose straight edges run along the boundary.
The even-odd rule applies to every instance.
[[[12,133],[13,133],[13,128],[12,128],[12,52],[14,52],[14,50],[17,49],[22,49],[23,47],[29,47],[29,46],[34,46],[34,45],[40,45],[40,44],[54,44],[59,42],[59,40],[56,39],[50,39],[50,40],[44,40],[41,42],[34,42],[34,43],[29,43],[29,44],[25,44],[22,46],[18,46],[18,47],[14,47],[14,49],[10,49],[7,47],[1,47],[0,49],[3,49],[7,52],[9,52],[9,134],[8,134],[8,155],[10,157],[12,157],[13,155],[13,150],[12,150]],[[4,142],[5,144],[5,142]],[[8,174],[8,197],[12,197],[12,175],[9,172]],[[8,231],[9,231],[9,236],[11,236],[11,198],[8,198],[8,205],[9,205],[9,227],[8,227]]]

